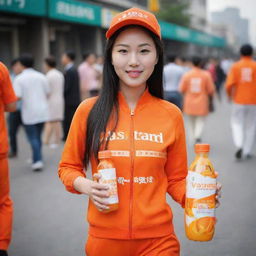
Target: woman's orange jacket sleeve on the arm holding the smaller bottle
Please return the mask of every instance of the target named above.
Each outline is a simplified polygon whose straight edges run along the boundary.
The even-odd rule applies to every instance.
[[[83,161],[88,113],[89,107],[84,101],[73,117],[59,164],[58,174],[61,181],[69,192],[76,194],[80,193],[74,189],[74,180],[79,176],[86,177]]]

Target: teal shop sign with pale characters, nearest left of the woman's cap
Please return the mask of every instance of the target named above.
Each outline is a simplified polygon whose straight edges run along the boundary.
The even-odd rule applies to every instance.
[[[101,26],[101,7],[75,0],[49,1],[49,17]]]

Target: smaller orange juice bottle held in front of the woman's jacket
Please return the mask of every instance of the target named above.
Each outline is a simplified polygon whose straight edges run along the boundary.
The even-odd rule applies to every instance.
[[[118,209],[116,168],[111,160],[111,151],[99,151],[98,157],[100,162],[97,167],[97,171],[99,174],[101,174],[99,183],[109,186],[109,197],[106,198],[109,209],[103,210],[103,212],[112,212]]]

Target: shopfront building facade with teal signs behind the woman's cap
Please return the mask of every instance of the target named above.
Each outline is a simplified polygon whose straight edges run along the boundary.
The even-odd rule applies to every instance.
[[[1,0],[0,60],[9,66],[14,57],[30,52],[35,67],[42,71],[43,60],[50,54],[57,58],[59,67],[66,50],[76,52],[77,64],[84,52],[101,55],[112,17],[133,6],[147,9],[147,1]],[[167,53],[191,55],[220,50],[225,45],[223,38],[159,23]]]

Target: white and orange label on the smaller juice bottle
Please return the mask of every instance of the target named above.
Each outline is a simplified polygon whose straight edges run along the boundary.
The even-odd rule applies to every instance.
[[[99,179],[100,184],[109,186],[109,197],[106,198],[107,204],[116,204],[118,203],[118,194],[117,194],[117,182],[116,182],[116,169],[100,169],[98,173],[101,174]]]

